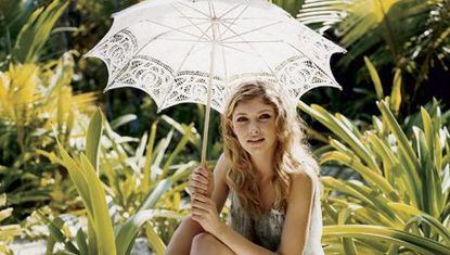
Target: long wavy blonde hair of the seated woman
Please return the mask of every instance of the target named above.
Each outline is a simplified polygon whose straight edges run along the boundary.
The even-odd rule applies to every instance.
[[[232,117],[234,109],[242,102],[261,98],[275,111],[277,150],[274,150],[274,175],[271,183],[274,188],[274,204],[278,209],[285,211],[291,189],[291,175],[304,170],[305,164],[312,167],[316,175],[319,166],[306,142],[304,123],[297,116],[295,107],[286,105],[282,91],[266,81],[247,81],[237,86],[228,100],[221,119],[221,132],[224,142],[224,154],[231,162],[227,174],[228,183],[237,196],[241,206],[253,218],[265,213],[259,202],[259,173],[254,168],[250,155],[244,150],[234,135]]]

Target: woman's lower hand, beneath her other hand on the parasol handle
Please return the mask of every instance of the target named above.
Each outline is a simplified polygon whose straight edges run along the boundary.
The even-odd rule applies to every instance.
[[[217,235],[220,233],[222,222],[220,221],[219,214],[217,213],[216,203],[201,193],[192,195],[191,201],[191,217],[197,221],[205,231]]]

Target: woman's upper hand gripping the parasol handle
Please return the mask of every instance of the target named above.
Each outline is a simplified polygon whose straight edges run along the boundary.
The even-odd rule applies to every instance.
[[[189,176],[188,188],[191,192],[191,202],[193,201],[192,196],[196,193],[211,197],[214,190],[213,174],[209,169],[206,168],[206,166],[200,166],[195,168],[194,171]]]

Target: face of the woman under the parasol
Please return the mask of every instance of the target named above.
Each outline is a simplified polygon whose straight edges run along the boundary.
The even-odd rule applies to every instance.
[[[234,135],[252,156],[267,156],[277,145],[277,113],[261,98],[239,103],[232,115]]]

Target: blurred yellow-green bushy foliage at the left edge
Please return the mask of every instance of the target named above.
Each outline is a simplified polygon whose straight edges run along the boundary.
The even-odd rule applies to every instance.
[[[0,192],[14,205],[15,220],[50,200],[56,207],[69,206],[70,192],[62,190],[67,187],[57,167],[41,155],[56,144],[52,128],[63,144],[77,145],[74,136],[83,133],[86,115],[94,110],[95,93],[73,92],[73,68],[66,53],[42,65],[11,64],[0,73]]]

